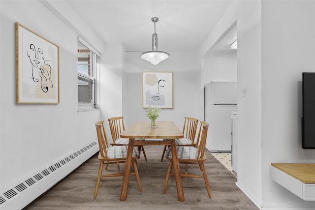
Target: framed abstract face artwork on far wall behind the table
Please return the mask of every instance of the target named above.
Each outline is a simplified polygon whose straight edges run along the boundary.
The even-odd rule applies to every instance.
[[[173,72],[142,72],[143,108],[173,108]]]

